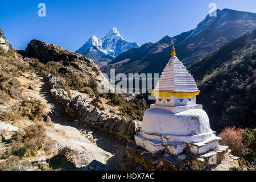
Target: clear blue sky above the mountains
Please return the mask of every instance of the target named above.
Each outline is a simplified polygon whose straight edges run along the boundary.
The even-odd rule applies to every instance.
[[[40,2],[46,17],[38,16]],[[255,0],[1,0],[0,27],[18,49],[38,39],[76,51],[91,35],[103,38],[112,27],[128,42],[154,43],[196,28],[212,2],[220,10],[256,12]]]

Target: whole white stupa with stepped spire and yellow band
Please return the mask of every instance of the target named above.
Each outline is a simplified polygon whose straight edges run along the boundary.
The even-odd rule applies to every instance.
[[[152,154],[159,151],[175,156],[187,151],[204,154],[216,148],[221,138],[210,129],[202,105],[196,104],[200,91],[192,75],[175,56],[174,47],[171,55],[152,93],[156,104],[145,111],[135,142]]]

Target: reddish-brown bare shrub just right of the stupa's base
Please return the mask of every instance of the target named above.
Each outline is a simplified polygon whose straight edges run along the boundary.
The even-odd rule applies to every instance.
[[[243,156],[245,146],[242,143],[243,129],[233,127],[225,127],[224,130],[218,135],[222,138],[220,144],[229,146],[232,150],[232,154],[235,156]]]

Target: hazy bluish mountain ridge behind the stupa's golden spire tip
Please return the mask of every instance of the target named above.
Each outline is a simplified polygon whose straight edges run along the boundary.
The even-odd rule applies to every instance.
[[[179,59],[190,65],[208,55],[217,47],[256,28],[256,14],[236,10],[217,10],[216,17],[207,17],[191,31],[170,38],[165,36],[159,42],[143,49],[137,56],[124,52],[108,65],[101,68],[109,73],[115,68],[116,73],[161,73],[170,59],[171,46],[174,45]],[[135,51],[135,50],[134,50]],[[120,59],[122,57],[122,59]]]

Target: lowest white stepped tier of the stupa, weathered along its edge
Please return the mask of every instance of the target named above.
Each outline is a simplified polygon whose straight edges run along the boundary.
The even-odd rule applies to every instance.
[[[151,154],[157,154],[159,152],[166,152],[174,156],[189,152],[193,155],[201,155],[213,150],[218,146],[220,137],[213,136],[203,142],[159,142],[158,140],[150,140],[144,138],[141,133],[134,136],[135,142],[138,146],[151,152]]]

